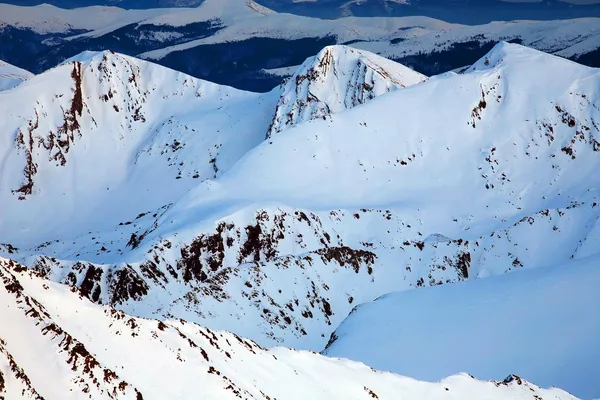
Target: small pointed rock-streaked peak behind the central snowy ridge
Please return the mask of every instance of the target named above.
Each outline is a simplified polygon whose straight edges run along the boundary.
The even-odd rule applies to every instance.
[[[425,79],[426,76],[376,54],[347,46],[328,46],[306,60],[282,84],[267,138]]]

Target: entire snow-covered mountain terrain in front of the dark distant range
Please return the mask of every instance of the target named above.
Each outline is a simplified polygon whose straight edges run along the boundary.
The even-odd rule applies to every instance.
[[[0,398],[600,397],[600,70],[300,64],[1,65]]]

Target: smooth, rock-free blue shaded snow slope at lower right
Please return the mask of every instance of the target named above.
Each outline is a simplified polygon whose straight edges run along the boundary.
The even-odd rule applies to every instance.
[[[488,379],[514,370],[594,398],[599,264],[594,257],[385,295],[358,306],[323,353],[434,381],[457,371]]]

